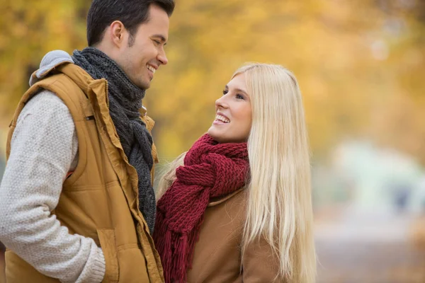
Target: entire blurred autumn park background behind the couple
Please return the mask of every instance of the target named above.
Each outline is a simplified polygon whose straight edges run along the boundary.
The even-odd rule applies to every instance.
[[[0,178],[30,74],[86,46],[90,3],[0,0]],[[179,0],[166,52],[144,101],[162,164],[210,127],[237,67],[282,64],[310,133],[317,282],[425,282],[424,0]]]

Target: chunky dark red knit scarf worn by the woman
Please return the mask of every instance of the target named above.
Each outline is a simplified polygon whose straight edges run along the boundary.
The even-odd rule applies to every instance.
[[[157,204],[154,242],[166,283],[186,282],[210,199],[243,187],[248,168],[246,142],[218,144],[205,134],[188,151],[176,180]]]

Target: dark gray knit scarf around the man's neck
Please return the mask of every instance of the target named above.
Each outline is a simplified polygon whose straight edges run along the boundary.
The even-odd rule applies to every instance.
[[[124,71],[105,53],[94,47],[74,51],[72,59],[93,79],[108,81],[109,113],[120,137],[125,155],[139,178],[139,209],[152,234],[155,223],[155,194],[150,170],[153,166],[152,137],[140,119],[145,90],[128,79]]]

